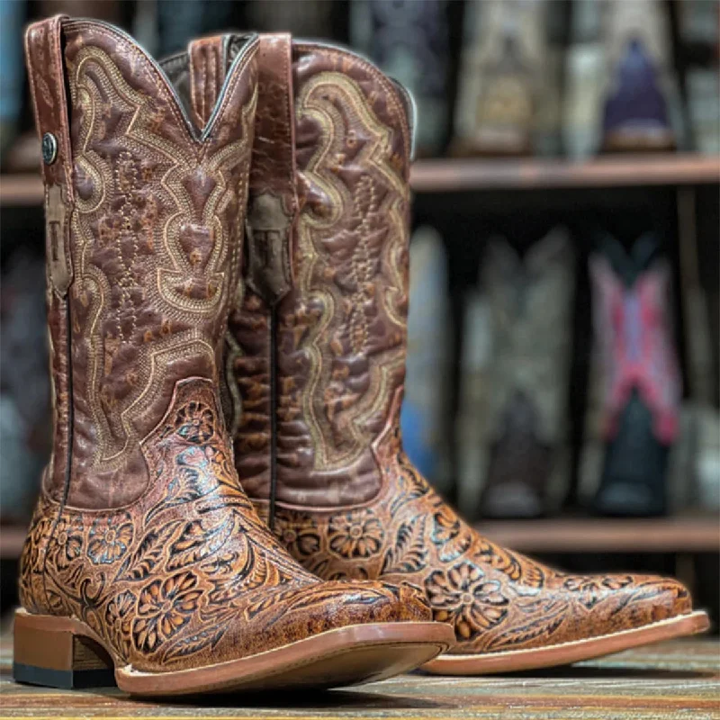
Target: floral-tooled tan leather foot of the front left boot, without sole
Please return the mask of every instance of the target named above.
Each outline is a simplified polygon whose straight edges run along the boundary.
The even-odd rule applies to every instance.
[[[43,501],[23,554],[26,608],[83,621],[116,663],[184,670],[339,627],[431,619],[419,590],[321,582],[293,560],[240,488],[211,383],[178,386],[143,452],[155,482],[138,502],[57,516]]]

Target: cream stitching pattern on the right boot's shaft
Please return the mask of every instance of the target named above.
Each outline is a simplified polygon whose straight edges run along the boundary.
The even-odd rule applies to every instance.
[[[366,322],[362,313],[362,304],[365,302],[367,288],[363,287],[369,282],[369,263],[365,247],[365,237],[368,230],[369,213],[361,210],[357,204],[357,195],[351,194],[347,186],[338,181],[338,176],[332,173],[331,167],[335,163],[335,156],[343,147],[346,121],[338,112],[333,99],[340,96],[340,103],[343,107],[349,108],[348,114],[352,121],[362,124],[373,141],[365,144],[361,157],[356,158],[356,165],[371,168],[382,178],[383,184],[389,186],[393,192],[386,193],[389,205],[383,208],[378,206],[374,200],[374,179],[367,175],[367,180],[361,179],[356,185],[355,193],[361,192],[364,188],[370,190],[371,205],[374,205],[374,212],[378,217],[387,217],[387,235],[383,247],[383,270],[382,273],[390,273],[389,282],[378,283],[375,286],[382,297],[378,302],[385,303],[392,299],[390,307],[385,307],[389,318],[397,323],[398,332],[405,333],[405,319],[397,305],[402,295],[404,285],[401,282],[399,270],[393,266],[400,259],[399,253],[407,247],[407,234],[403,215],[399,209],[409,198],[409,189],[403,179],[397,175],[392,168],[390,157],[392,154],[392,130],[383,125],[382,122],[369,109],[365,94],[361,88],[347,75],[335,72],[323,72],[311,78],[302,87],[302,92],[297,101],[298,119],[311,117],[322,128],[322,137],[319,148],[311,157],[305,169],[305,175],[311,178],[312,184],[320,186],[323,192],[327,193],[329,218],[320,218],[314,215],[310,208],[306,207],[301,213],[299,220],[299,239],[301,246],[302,262],[298,283],[304,293],[307,293],[312,300],[320,301],[323,308],[320,320],[314,325],[311,334],[303,343],[302,349],[310,359],[309,377],[306,388],[302,392],[301,403],[304,419],[308,422],[313,448],[315,450],[315,468],[322,470],[333,470],[340,467],[347,467],[361,455],[367,446],[367,431],[365,425],[369,419],[383,409],[392,400],[389,394],[392,391],[392,378],[401,370],[404,365],[404,353],[401,344],[392,347],[383,354],[382,360],[375,358],[371,360],[371,377],[373,378],[370,389],[365,395],[358,398],[356,403],[347,410],[340,412],[346,416],[343,421],[343,428],[347,435],[343,438],[342,449],[333,437],[329,420],[325,417],[326,400],[320,385],[327,387],[329,383],[329,365],[332,362],[329,351],[320,349],[327,348],[329,338],[332,337],[332,329],[338,325],[338,313],[343,310],[343,297],[332,285],[321,285],[319,289],[313,285],[313,271],[320,259],[320,248],[322,238],[338,232],[337,223],[342,219],[343,208],[356,205],[355,216],[358,220],[357,228],[353,231],[357,236],[356,247],[353,257],[352,272],[358,285],[358,291],[350,299],[350,315],[340,321],[349,321],[352,329],[356,331],[353,338],[353,349],[356,353],[362,352],[368,339]],[[387,213],[387,215],[383,215]],[[346,230],[347,231],[347,230]],[[390,265],[390,270],[388,269]],[[398,289],[383,293],[385,284],[395,284]],[[359,309],[358,309],[359,305]]]

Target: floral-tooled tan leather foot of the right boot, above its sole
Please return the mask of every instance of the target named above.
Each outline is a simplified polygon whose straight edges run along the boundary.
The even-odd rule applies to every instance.
[[[571,575],[514,553],[455,514],[410,465],[383,464],[381,496],[338,513],[278,509],[276,532],[325,578],[382,578],[422,589],[454,626],[452,653],[547,647],[646,626],[691,611],[678,581]]]

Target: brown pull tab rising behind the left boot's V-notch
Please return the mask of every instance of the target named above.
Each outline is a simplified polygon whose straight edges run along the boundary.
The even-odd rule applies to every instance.
[[[190,70],[190,112],[202,130],[210,120],[228,67],[227,35],[192,40],[187,46]]]

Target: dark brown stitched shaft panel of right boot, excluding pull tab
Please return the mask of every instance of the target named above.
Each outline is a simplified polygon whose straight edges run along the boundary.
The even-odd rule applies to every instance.
[[[362,58],[295,43],[293,82],[300,213],[277,305],[277,499],[352,506],[380,491],[369,445],[404,374],[410,129],[397,88]],[[262,452],[238,455],[238,470],[268,498]]]

